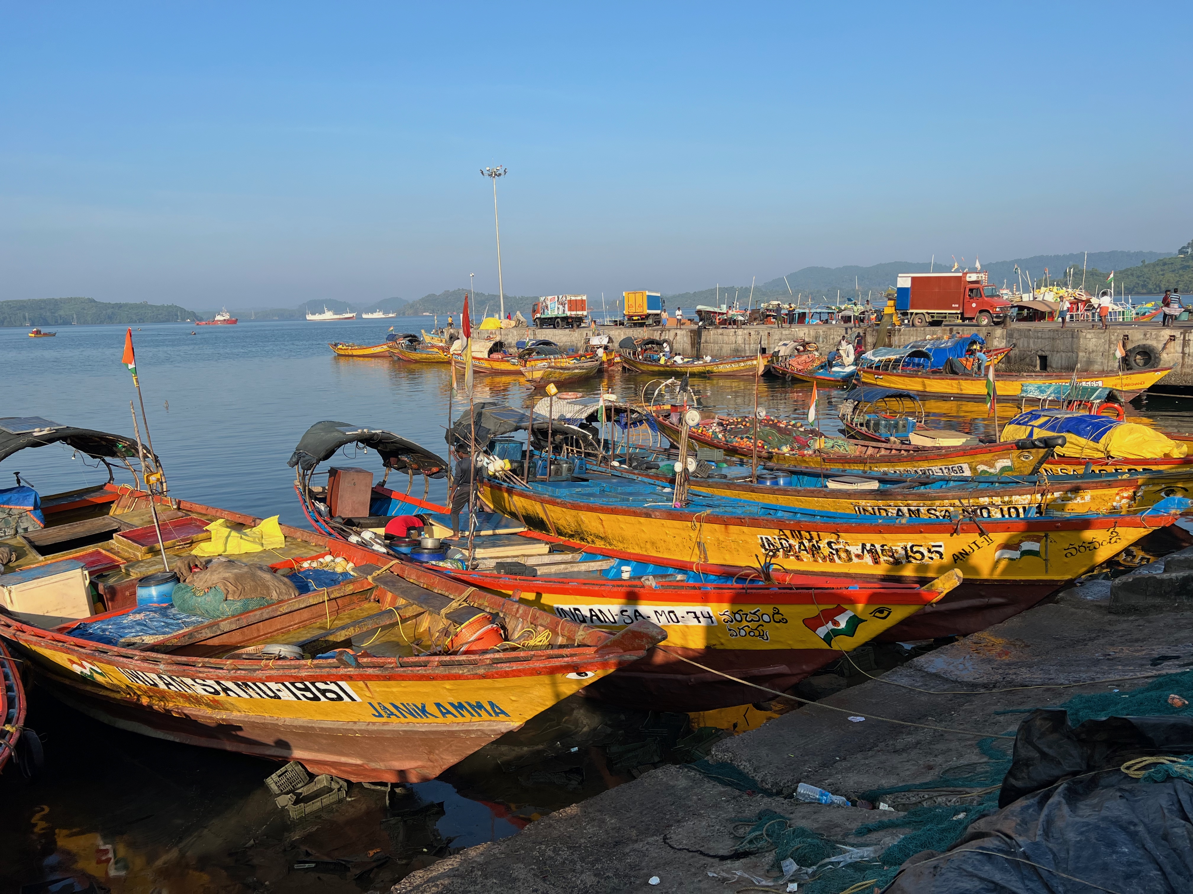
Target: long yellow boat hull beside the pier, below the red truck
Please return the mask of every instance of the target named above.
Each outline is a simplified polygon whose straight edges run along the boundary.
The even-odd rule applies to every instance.
[[[1155,370],[1132,370],[1130,372],[1078,373],[1077,385],[1105,387],[1114,391],[1125,401],[1144,391],[1168,373],[1170,366]],[[858,375],[864,385],[880,385],[901,391],[914,391],[919,395],[948,395],[985,399],[985,378],[978,375],[944,375],[938,372],[890,372],[884,370],[860,368]],[[995,373],[994,384],[999,397],[1019,397],[1024,385],[1068,385],[1073,373]]]

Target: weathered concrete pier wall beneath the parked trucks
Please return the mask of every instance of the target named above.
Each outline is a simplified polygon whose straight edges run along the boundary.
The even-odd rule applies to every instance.
[[[592,335],[589,329],[521,329],[518,337],[550,339],[563,347],[580,347]],[[622,339],[649,336],[668,339],[673,349],[684,356],[740,356],[753,354],[761,341],[762,349],[772,350],[783,341],[806,339],[821,346],[822,352],[830,349],[842,335],[851,339],[857,333],[855,327],[846,325],[797,325],[783,327],[753,325],[741,329],[701,329],[694,325],[682,328],[625,328],[598,327],[598,331],[608,333],[616,346]],[[871,348],[877,337],[873,328],[863,330],[866,347]],[[528,333],[528,335],[527,335]],[[1078,362],[1080,370],[1101,372],[1118,368],[1114,348],[1123,342],[1126,350],[1151,348],[1160,358],[1160,366],[1172,366],[1173,372],[1164,377],[1168,386],[1193,386],[1193,327],[1183,324],[1162,328],[1158,323],[1118,323],[1109,329],[1101,329],[1088,322],[1071,323],[1064,329],[1056,323],[1012,323],[1009,327],[901,327],[895,330],[895,344],[907,344],[921,339],[939,337],[951,334],[969,335],[978,333],[991,348],[1005,348],[1014,344],[1014,350],[1000,365],[1007,372],[1070,372]]]

